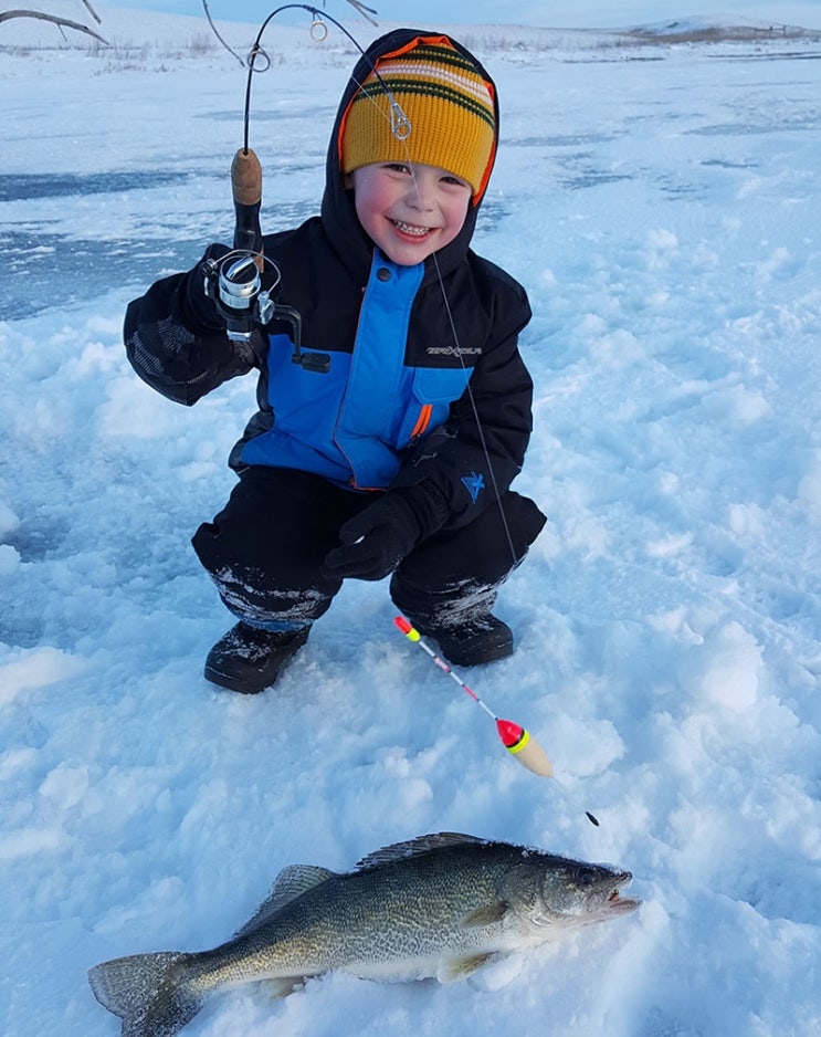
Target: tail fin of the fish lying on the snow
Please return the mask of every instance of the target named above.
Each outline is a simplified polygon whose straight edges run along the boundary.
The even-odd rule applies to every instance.
[[[116,957],[88,970],[101,1005],[123,1019],[123,1037],[173,1037],[201,1007],[187,987],[190,954],[162,951]]]

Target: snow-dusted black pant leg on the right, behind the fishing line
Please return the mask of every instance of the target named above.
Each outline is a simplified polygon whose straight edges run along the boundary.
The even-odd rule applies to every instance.
[[[420,629],[448,629],[486,615],[498,588],[527,554],[546,518],[526,496],[508,490],[497,505],[460,530],[423,541],[390,583],[393,604]]]

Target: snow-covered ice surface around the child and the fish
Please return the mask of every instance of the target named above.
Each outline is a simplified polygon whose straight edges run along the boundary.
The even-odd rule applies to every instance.
[[[386,584],[349,583],[275,690],[203,680],[231,618],[189,537],[253,378],[175,407],[120,327],[230,235],[244,72],[201,19],[95,7],[108,51],[0,35],[0,1029],[114,1035],[92,964],[213,945],[288,863],[451,829],[629,868],[644,904],[467,983],[248,987],[186,1033],[819,1033],[821,42],[460,33],[501,92],[475,248],[533,303],[516,486],[549,516],[499,599],[516,653],[464,675]],[[316,209],[355,52],[269,32],[273,229]]]

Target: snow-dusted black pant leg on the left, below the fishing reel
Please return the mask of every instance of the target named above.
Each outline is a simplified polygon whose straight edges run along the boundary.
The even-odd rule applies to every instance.
[[[255,465],[192,544],[238,618],[269,630],[304,627],[330,605],[341,580],[320,573],[339,526],[364,506],[318,475]]]

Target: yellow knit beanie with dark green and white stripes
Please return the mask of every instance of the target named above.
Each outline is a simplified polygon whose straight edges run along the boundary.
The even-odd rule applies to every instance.
[[[471,185],[474,203],[495,150],[493,85],[448,36],[418,36],[377,59],[339,127],[343,172],[371,163],[438,166]]]

